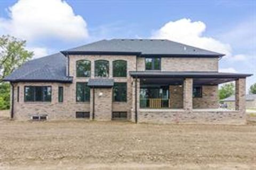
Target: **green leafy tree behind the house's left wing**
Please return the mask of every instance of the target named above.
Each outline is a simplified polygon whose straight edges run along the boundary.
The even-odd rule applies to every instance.
[[[33,52],[25,50],[26,41],[9,35],[0,37],[0,110],[10,108],[10,84],[3,78],[32,58]]]

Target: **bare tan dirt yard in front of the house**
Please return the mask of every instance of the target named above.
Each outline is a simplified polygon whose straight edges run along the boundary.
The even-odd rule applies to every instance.
[[[256,169],[256,124],[0,119],[0,169]]]

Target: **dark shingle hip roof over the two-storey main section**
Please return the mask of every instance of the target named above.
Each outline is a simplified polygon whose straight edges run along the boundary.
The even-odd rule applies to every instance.
[[[110,39],[71,48],[62,53],[134,53],[137,55],[198,55],[223,56],[223,54],[169,41],[167,39]]]

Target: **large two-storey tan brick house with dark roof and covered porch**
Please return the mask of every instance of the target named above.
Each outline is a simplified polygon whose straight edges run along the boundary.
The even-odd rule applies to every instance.
[[[223,54],[165,39],[111,39],[26,62],[12,84],[11,117],[242,123],[245,79],[218,72]],[[218,84],[236,81],[236,110],[218,109]]]

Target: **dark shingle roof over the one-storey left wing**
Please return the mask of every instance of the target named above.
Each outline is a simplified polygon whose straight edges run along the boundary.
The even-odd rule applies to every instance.
[[[66,76],[67,59],[61,53],[44,56],[26,62],[20,68],[4,78],[10,82],[67,82],[72,79]]]

